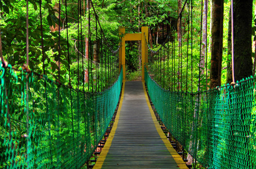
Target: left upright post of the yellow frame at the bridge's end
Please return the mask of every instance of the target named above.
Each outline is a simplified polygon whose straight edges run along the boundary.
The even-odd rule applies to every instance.
[[[123,68],[123,82],[125,82],[125,27],[119,27],[119,33],[122,35],[121,50],[119,51],[120,70]]]

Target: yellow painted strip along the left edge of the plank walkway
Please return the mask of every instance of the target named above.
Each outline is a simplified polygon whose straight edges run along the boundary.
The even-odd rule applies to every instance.
[[[125,82],[123,82],[122,95],[121,95],[120,103],[119,103],[119,106],[118,106],[116,119],[114,120],[114,125],[113,125],[112,130],[111,130],[111,132],[109,134],[108,139],[106,140],[104,148],[103,148],[102,152],[100,153],[100,156],[97,159],[97,162],[96,162],[96,164],[95,164],[95,166],[93,168],[101,168],[103,166],[104,161],[105,161],[106,155],[109,152],[109,148],[110,148],[110,146],[112,144],[112,140],[114,138],[114,134],[116,134],[116,130],[117,130],[117,124],[118,124],[118,121],[119,121],[120,111],[121,111],[122,104],[123,104],[123,94],[125,94]]]

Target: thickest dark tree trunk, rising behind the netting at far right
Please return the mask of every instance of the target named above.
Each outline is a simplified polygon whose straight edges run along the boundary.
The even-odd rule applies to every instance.
[[[234,80],[240,81],[253,73],[251,59],[251,21],[253,0],[233,1]]]

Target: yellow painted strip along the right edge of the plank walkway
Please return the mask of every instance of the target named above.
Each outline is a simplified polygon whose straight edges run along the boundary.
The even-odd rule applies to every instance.
[[[185,162],[182,160],[181,156],[178,155],[176,150],[173,149],[173,147],[170,144],[169,140],[165,136],[163,130],[161,130],[159,122],[156,119],[155,113],[153,112],[153,110],[151,108],[150,100],[148,99],[148,95],[147,95],[147,91],[146,91],[146,87],[145,87],[145,83],[143,83],[143,90],[144,90],[144,94],[145,94],[145,97],[146,97],[146,100],[147,100],[148,108],[150,109],[151,117],[153,119],[153,122],[155,124],[155,127],[156,127],[156,130],[157,130],[158,134],[160,135],[161,139],[163,140],[166,148],[169,150],[169,152],[172,155],[173,159],[177,163],[177,165],[178,165],[177,167],[179,167],[179,168],[186,168],[187,169],[187,166],[186,166]]]

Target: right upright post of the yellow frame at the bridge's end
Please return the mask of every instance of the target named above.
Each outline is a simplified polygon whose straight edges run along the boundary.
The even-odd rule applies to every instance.
[[[145,37],[148,41],[148,27],[147,26],[142,26],[142,43],[141,43],[141,45],[142,45],[141,46],[141,48],[142,48],[142,82],[145,82],[144,65],[147,62],[147,58],[146,58],[147,48],[146,48]]]

